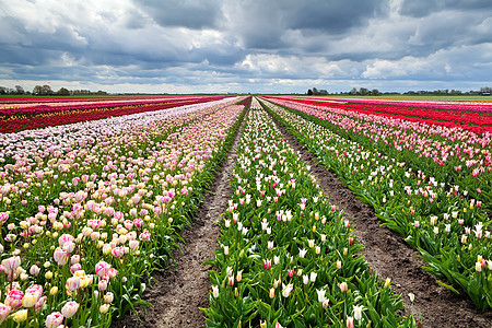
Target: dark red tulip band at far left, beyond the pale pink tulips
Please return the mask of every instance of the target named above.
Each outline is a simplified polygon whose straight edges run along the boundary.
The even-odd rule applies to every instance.
[[[136,113],[161,110],[176,106],[213,102],[222,96],[181,98],[169,101],[130,101],[128,103],[89,103],[84,105],[71,104],[59,106],[36,106],[26,108],[9,108],[0,112],[0,133],[17,132],[22,130],[68,125],[79,121],[96,120],[107,117],[124,116]],[[12,112],[12,113],[10,113]]]

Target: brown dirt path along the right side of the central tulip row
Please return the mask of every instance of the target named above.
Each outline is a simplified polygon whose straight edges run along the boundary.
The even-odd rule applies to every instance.
[[[312,173],[329,195],[330,203],[345,210],[344,218],[352,222],[358,239],[365,246],[362,254],[370,268],[383,280],[389,277],[396,292],[402,294],[405,315],[421,318],[422,327],[492,327],[491,311],[479,312],[465,293],[458,296],[437,284],[435,277],[421,269],[426,263],[418,257],[418,250],[405,243],[401,235],[380,226],[382,221],[371,206],[359,200],[335,173],[317,164],[316,156],[273,120],[290,145],[312,166]],[[409,293],[415,295],[413,305]]]

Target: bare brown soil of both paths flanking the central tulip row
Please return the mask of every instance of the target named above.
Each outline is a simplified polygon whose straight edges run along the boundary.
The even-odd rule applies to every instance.
[[[456,295],[440,285],[436,279],[422,269],[425,262],[419,258],[418,250],[405,243],[403,237],[387,227],[375,215],[374,209],[359,200],[340,181],[338,176],[316,161],[316,156],[305,150],[291,133],[278,124],[290,145],[300,152],[301,157],[312,166],[311,171],[328,195],[331,204],[343,209],[344,218],[354,226],[356,238],[365,246],[362,254],[372,270],[382,280],[391,279],[396,293],[402,295],[403,315],[413,315],[421,327],[492,327],[492,312],[477,311],[465,292]],[[238,136],[241,136],[242,128]],[[238,136],[231,154],[237,149]],[[206,327],[204,315],[199,309],[208,307],[210,281],[208,270],[202,263],[213,258],[219,246],[219,226],[214,224],[227,208],[231,192],[230,178],[234,161],[230,155],[218,172],[215,183],[194,218],[192,227],[183,236],[186,245],[183,253],[176,251],[176,262],[154,274],[152,288],[144,292],[143,298],[154,307],[138,309],[142,320],[126,315],[115,320],[113,328],[124,327]],[[413,304],[408,296],[415,295]]]

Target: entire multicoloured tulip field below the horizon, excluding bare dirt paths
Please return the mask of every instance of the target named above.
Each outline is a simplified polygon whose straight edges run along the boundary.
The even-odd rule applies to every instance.
[[[110,327],[150,309],[229,157],[194,327],[421,327],[280,125],[436,285],[492,308],[491,102],[0,98],[0,325]]]

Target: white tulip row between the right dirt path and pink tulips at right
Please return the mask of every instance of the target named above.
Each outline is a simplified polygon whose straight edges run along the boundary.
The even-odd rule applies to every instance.
[[[374,207],[385,225],[419,248],[427,271],[446,278],[453,291],[467,292],[478,308],[492,307],[491,221],[480,201],[468,199],[457,185],[449,188],[316,124],[323,121],[271,103],[269,107],[324,165]]]

